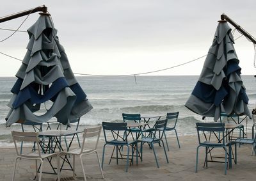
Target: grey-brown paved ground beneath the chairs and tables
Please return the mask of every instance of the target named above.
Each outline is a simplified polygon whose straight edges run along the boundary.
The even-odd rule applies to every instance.
[[[250,136],[250,135],[249,135]],[[198,162],[198,173],[195,173],[196,146],[198,140],[196,136],[180,136],[180,146],[177,146],[175,138],[169,138],[170,152],[168,152],[169,164],[164,157],[163,147],[156,145],[156,152],[159,158],[157,168],[154,153],[148,146],[143,147],[143,161],[139,160],[138,165],[129,166],[125,172],[125,161],[115,160],[108,164],[111,148],[106,149],[106,159],[104,164],[104,180],[255,180],[256,159],[251,155],[251,145],[237,146],[237,164],[232,169],[227,170],[224,175],[224,164],[219,162],[209,162],[208,168],[204,166],[204,148],[201,148]],[[100,159],[102,157],[102,146],[104,140],[100,140],[98,151]],[[0,181],[11,180],[13,164],[15,159],[15,148],[0,149]],[[218,149],[215,155],[223,155],[223,151]],[[86,175],[88,180],[102,180],[96,155],[84,157],[86,164]],[[45,164],[44,171],[50,171],[49,165]],[[76,159],[76,180],[83,180],[83,172],[79,159]],[[16,179],[29,180],[35,174],[35,162],[18,161]],[[42,180],[56,180],[56,175],[43,174]],[[71,171],[61,171],[61,180],[74,180]]]

